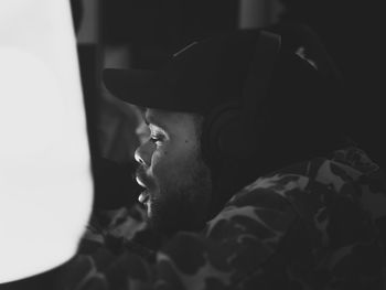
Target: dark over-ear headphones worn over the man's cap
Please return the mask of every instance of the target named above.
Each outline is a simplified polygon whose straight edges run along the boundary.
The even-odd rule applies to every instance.
[[[243,85],[243,101],[216,107],[204,121],[202,150],[210,164],[223,159],[248,160],[258,151],[264,118],[257,116],[257,108],[268,94],[281,36],[261,30],[255,46]]]

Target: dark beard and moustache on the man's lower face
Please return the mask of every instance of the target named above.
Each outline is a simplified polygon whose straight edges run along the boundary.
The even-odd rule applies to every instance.
[[[143,168],[138,169],[137,175],[149,189],[153,187],[154,181],[146,175]],[[162,170],[154,172],[154,176],[159,191],[148,190],[149,226],[167,236],[179,230],[202,229],[210,215],[212,179],[201,155],[194,153],[175,172]]]

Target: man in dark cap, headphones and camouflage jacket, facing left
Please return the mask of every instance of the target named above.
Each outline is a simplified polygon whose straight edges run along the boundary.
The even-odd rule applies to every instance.
[[[79,256],[74,284],[383,289],[385,180],[344,138],[328,56],[302,43],[282,28],[236,31],[159,72],[104,72],[115,96],[144,108],[136,179],[163,240],[154,255],[128,241]]]

